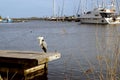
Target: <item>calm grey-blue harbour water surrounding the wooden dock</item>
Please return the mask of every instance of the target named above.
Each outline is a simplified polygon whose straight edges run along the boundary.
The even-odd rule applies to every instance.
[[[117,43],[119,26],[49,21],[1,23],[0,50],[42,51],[37,37],[43,36],[48,51],[62,55],[61,59],[49,62],[45,80],[95,79],[84,73],[91,67],[99,70],[98,55],[113,53],[110,50]]]

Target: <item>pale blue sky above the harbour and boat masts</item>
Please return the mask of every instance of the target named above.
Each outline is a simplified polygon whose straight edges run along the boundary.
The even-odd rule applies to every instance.
[[[75,15],[78,7],[80,7],[80,1],[82,1],[84,8],[90,8],[93,7],[91,4],[95,0],[64,0],[63,15]],[[106,2],[106,0],[104,1]],[[0,0],[0,3],[0,15],[2,17],[45,17],[53,15],[53,0]],[[63,0],[55,0],[56,15],[61,15],[62,6]]]

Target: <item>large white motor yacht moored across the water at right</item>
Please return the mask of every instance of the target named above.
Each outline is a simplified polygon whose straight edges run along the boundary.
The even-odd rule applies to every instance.
[[[95,8],[80,16],[81,23],[120,24],[120,17],[115,16],[115,10]]]

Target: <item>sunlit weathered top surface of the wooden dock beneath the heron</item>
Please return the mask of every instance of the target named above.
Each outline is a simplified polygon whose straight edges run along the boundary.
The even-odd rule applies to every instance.
[[[0,50],[0,57],[11,57],[11,58],[25,58],[25,59],[42,59],[48,57],[48,59],[54,60],[60,58],[58,52],[33,52],[33,51],[12,51],[12,50]],[[51,58],[53,57],[53,58]]]

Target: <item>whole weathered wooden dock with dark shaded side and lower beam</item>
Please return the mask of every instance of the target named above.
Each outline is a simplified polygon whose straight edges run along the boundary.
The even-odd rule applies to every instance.
[[[42,53],[33,51],[0,50],[0,72],[13,72],[25,76],[47,68],[49,61],[61,57],[58,52]]]

